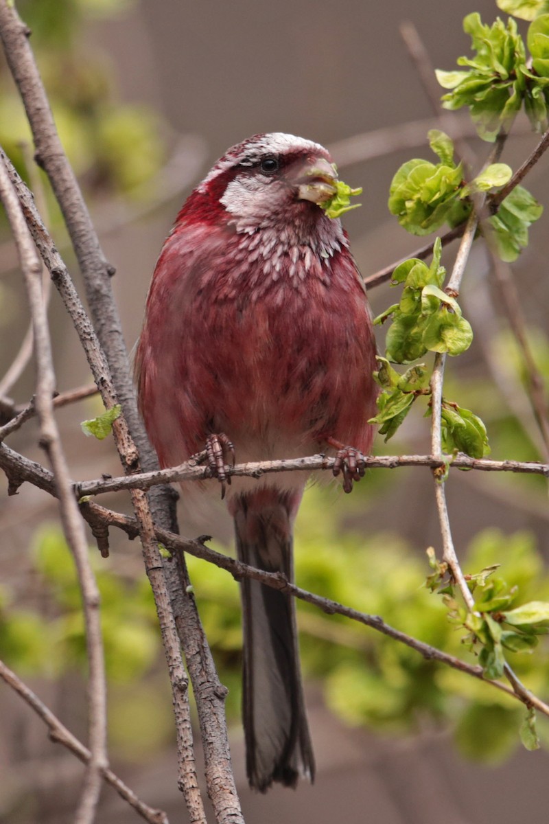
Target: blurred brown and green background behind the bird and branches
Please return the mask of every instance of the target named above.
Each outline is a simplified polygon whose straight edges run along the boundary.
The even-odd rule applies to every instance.
[[[402,43],[411,21],[437,68],[453,69],[468,54],[463,16],[491,23],[493,0],[21,0],[31,43],[58,128],[81,180],[100,239],[117,269],[114,290],[128,349],[139,334],[148,283],[179,205],[216,158],[253,133],[286,131],[328,146],[342,177],[362,185],[363,206],[345,218],[365,278],[412,254],[421,239],[388,213],[388,187],[411,157],[430,156],[435,125],[429,96]],[[524,26],[525,29],[525,26]],[[444,121],[467,139],[480,165],[490,150],[467,115]],[[537,136],[522,119],[505,147],[513,168]],[[54,199],[30,158],[21,104],[2,62],[0,143],[30,180],[46,222],[77,273]],[[547,199],[549,164],[537,164],[528,189]],[[547,200],[546,200],[547,205]],[[513,265],[537,368],[549,375],[547,255],[544,218]],[[24,349],[28,312],[5,220],[0,239],[0,404],[25,403],[33,368]],[[455,248],[444,250],[451,268]],[[398,300],[385,284],[370,291],[374,314]],[[472,321],[471,349],[449,364],[445,395],[485,421],[495,459],[545,460],[524,392],[524,368],[480,244],[461,297]],[[77,337],[56,294],[50,302],[58,390],[89,384]],[[379,347],[383,349],[384,330]],[[20,369],[12,370],[12,363]],[[17,372],[21,372],[18,374]],[[59,410],[72,477],[119,475],[109,438],[86,439],[80,422],[99,414],[96,399]],[[429,452],[428,421],[412,410],[393,441],[375,452]],[[8,444],[42,460],[34,422]],[[85,645],[72,562],[56,526],[54,503],[29,485],[7,499],[0,479],[0,657],[25,677],[82,740],[86,739]],[[466,571],[502,564],[521,601],[549,600],[546,559],[547,483],[525,475],[453,472],[447,489],[454,540]],[[116,494],[105,505],[129,511]],[[216,536],[229,551],[230,523],[216,513],[185,512],[181,530]],[[440,596],[425,587],[426,548],[441,555],[430,472],[371,471],[351,496],[313,488],[297,525],[300,586],[426,641],[474,658],[449,624]],[[97,556],[97,557],[96,557]],[[111,536],[111,557],[95,551],[103,597],[109,672],[109,734],[114,770],[147,803],[186,821],[176,788],[170,690],[156,616],[138,546]],[[300,607],[302,657],[318,777],[313,787],[250,794],[240,728],[240,614],[236,585],[220,570],[191,563],[198,607],[228,711],[235,772],[248,821],[328,824],[500,824],[547,820],[542,749],[521,747],[523,709],[472,679],[424,662],[375,633]],[[547,647],[514,656],[527,685],[547,699]],[[49,742],[30,709],[0,686],[0,822],[69,822],[81,765]],[[99,820],[137,821],[105,788]]]

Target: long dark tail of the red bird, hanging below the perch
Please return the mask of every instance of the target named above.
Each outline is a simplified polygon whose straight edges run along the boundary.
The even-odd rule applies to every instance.
[[[292,526],[300,493],[260,489],[231,502],[240,560],[293,579]],[[250,578],[241,585],[244,620],[243,715],[251,787],[314,780],[294,599]]]

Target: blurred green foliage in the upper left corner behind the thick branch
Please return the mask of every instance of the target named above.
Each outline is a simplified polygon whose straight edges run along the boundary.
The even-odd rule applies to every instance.
[[[147,185],[165,156],[160,117],[144,106],[121,103],[108,56],[82,43],[81,31],[90,18],[118,16],[132,2],[20,0],[17,4],[33,32],[33,49],[63,147],[88,196],[148,196]],[[0,143],[26,178],[21,143],[32,145],[30,129],[5,70],[0,73]],[[50,206],[55,217],[53,198]]]

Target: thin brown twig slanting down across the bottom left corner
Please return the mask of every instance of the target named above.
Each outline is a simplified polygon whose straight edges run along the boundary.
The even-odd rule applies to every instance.
[[[31,709],[35,710],[35,713],[49,728],[49,737],[52,741],[62,744],[63,747],[67,747],[67,750],[73,752],[74,755],[77,756],[77,758],[79,758],[84,764],[88,764],[90,762],[91,752],[87,749],[87,747],[84,747],[81,741],[69,732],[64,724],[58,719],[57,715],[55,715],[51,709],[44,705],[38,695],[30,690],[26,683],[21,681],[21,678],[17,677],[16,673],[12,672],[12,670],[7,667],[3,661],[0,661],[0,678],[2,678],[3,681],[7,683],[7,686],[10,686],[12,690],[17,693],[17,695],[26,701]],[[103,780],[114,787],[121,798],[123,798],[124,801],[127,801],[130,807],[133,807],[133,809],[138,812],[139,815],[145,819],[145,821],[149,822],[149,824],[169,824],[168,817],[165,812],[162,810],[156,810],[144,803],[133,792],[133,789],[130,789],[127,784],[124,784],[123,780],[119,779],[119,776],[116,775],[113,770],[110,770],[109,767],[102,767],[100,773]]]

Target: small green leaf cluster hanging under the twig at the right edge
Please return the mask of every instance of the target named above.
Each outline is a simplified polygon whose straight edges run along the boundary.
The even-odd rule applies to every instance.
[[[541,218],[542,212],[542,205],[523,186],[515,186],[507,195],[497,214],[488,220],[501,260],[511,263],[519,257],[528,246],[528,228]]]

